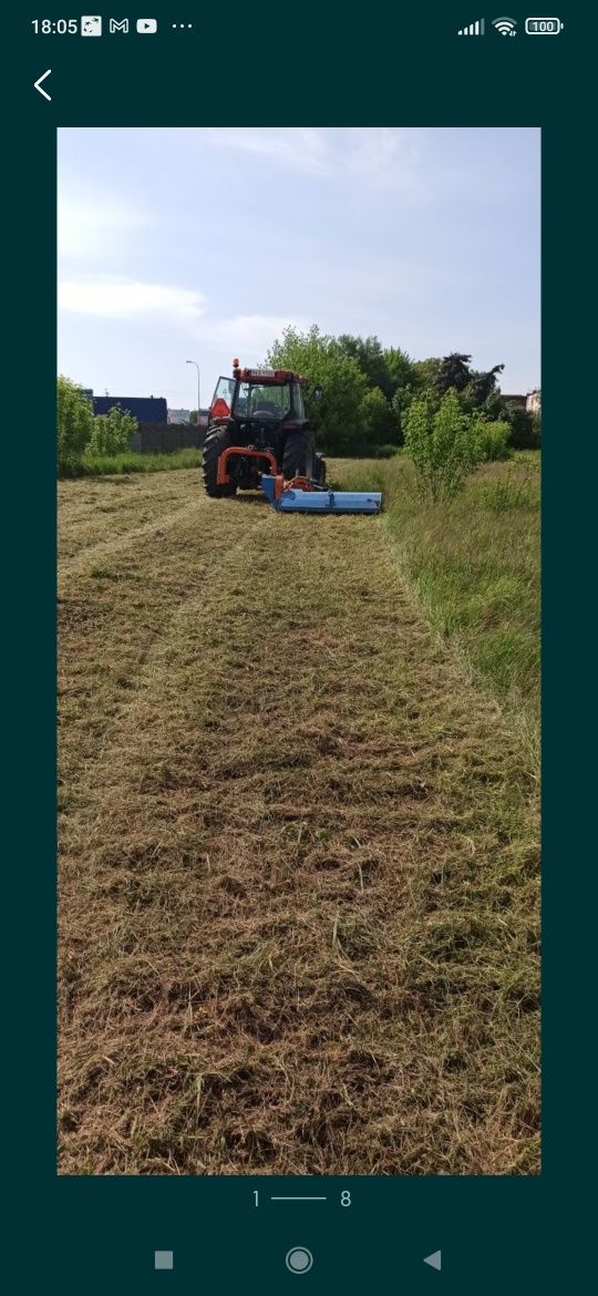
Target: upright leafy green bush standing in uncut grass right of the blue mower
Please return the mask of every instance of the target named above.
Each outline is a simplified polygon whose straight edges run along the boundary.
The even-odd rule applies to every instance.
[[[465,413],[453,389],[440,403],[430,393],[413,400],[405,416],[405,446],[422,495],[436,503],[458,494],[482,463],[482,416]]]

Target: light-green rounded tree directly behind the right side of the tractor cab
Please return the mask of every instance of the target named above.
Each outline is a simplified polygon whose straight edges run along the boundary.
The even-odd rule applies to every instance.
[[[361,404],[368,382],[357,360],[343,354],[337,340],[320,333],[317,324],[300,333],[286,328],[268,353],[268,364],[296,369],[308,378],[304,391],[305,411],[315,430],[316,445],[331,454],[359,452],[362,419]],[[313,399],[313,386],[324,389],[320,402]]]

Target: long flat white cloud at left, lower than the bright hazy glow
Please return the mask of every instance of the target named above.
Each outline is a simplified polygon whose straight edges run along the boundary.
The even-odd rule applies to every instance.
[[[58,283],[58,310],[113,320],[167,320],[186,327],[206,308],[202,293],[168,284],[145,284],[115,276],[65,279]]]

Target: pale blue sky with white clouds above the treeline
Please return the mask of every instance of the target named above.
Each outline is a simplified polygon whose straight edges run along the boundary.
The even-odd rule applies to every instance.
[[[540,386],[540,130],[58,131],[58,371],[210,403],[287,324]]]

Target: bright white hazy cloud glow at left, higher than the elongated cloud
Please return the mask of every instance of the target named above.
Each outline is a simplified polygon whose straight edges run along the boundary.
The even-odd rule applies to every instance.
[[[84,197],[58,192],[58,257],[85,260],[106,257],[131,245],[153,224],[149,213],[106,193]]]

